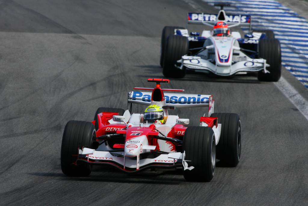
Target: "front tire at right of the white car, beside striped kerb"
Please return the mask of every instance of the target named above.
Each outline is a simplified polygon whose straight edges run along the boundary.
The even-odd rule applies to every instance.
[[[258,80],[265,82],[277,82],[281,76],[281,49],[278,39],[261,39],[259,41],[259,57],[266,59],[270,72],[265,74],[263,70],[258,73]]]

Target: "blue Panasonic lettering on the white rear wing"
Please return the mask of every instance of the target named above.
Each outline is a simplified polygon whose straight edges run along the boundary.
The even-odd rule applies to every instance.
[[[144,102],[151,102],[151,95],[144,94],[140,91],[132,92],[132,99],[142,99]],[[202,104],[208,103],[209,98],[205,95],[193,95],[193,96],[168,96],[165,95],[166,103],[171,104]]]

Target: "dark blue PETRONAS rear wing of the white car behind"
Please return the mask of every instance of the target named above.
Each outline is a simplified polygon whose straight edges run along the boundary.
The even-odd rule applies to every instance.
[[[228,23],[228,25],[233,25],[241,22],[239,26],[250,26],[250,21],[251,17],[249,15],[220,15],[218,20],[223,20]],[[187,20],[188,24],[204,24],[209,23],[209,24],[214,24],[217,21],[217,16],[216,14],[204,14],[204,13],[188,13],[187,15]],[[203,21],[202,21],[203,19]]]

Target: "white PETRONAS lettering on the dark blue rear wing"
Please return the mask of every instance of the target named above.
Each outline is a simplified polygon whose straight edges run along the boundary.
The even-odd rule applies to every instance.
[[[217,15],[214,14],[203,14],[203,20],[204,21],[216,21]],[[193,21],[202,21],[202,14],[199,13],[188,13],[188,20]],[[241,23],[250,23],[250,16],[243,15],[226,15],[227,22],[239,22],[241,20]]]

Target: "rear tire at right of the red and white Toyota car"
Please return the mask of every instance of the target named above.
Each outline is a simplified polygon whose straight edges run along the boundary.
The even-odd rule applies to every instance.
[[[235,167],[241,158],[241,120],[235,113],[213,113],[221,124],[221,134],[216,146],[217,159],[222,166]]]

